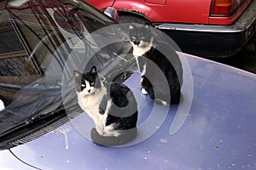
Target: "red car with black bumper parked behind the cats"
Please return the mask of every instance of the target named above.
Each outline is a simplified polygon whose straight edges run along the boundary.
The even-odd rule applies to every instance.
[[[204,57],[237,54],[252,39],[255,0],[87,0],[119,11],[119,22],[150,21],[185,53]]]

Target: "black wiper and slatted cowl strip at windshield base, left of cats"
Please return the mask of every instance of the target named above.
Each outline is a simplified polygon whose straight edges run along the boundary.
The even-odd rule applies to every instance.
[[[63,105],[62,105],[63,106]],[[37,139],[46,133],[68,122],[70,119],[78,116],[79,105],[69,105],[70,107],[61,107],[55,112],[32,116],[25,122],[9,129],[8,132],[0,135],[0,150],[9,149],[19,144]],[[69,116],[67,116],[67,112]]]

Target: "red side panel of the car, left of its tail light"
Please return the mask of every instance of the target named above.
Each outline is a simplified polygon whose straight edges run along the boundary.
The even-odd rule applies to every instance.
[[[97,1],[87,1],[96,8],[106,8]],[[115,0],[113,7],[119,11],[136,11],[144,14],[148,20],[152,22],[178,22],[178,23],[195,23],[208,24],[208,16],[210,13],[210,1],[178,1],[169,0],[166,3],[148,3],[144,0],[130,1],[130,0]],[[191,8],[191,2],[193,7]],[[168,11],[168,12],[163,12]],[[185,12],[185,14],[184,14]]]

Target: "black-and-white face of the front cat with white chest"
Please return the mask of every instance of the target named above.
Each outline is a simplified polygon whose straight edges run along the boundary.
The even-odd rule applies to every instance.
[[[96,92],[96,88],[100,88],[96,66],[93,66],[89,72],[85,73],[74,71],[74,76],[77,92],[82,92],[85,95],[94,94]]]

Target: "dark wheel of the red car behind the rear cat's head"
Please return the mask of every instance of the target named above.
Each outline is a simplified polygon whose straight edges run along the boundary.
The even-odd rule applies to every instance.
[[[151,22],[147,19],[144,19],[141,16],[137,16],[134,14],[120,14],[119,15],[119,23],[138,23],[138,24],[150,24]]]

